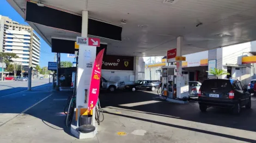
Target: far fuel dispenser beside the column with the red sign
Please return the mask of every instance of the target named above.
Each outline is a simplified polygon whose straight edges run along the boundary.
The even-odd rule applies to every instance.
[[[162,67],[162,87],[167,92],[163,92],[167,96],[168,101],[188,99],[188,74],[176,73],[176,66]]]

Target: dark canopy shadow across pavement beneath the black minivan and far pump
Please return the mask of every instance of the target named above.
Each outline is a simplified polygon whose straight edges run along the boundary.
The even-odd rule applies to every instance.
[[[255,97],[252,96],[252,109],[242,108],[241,114],[236,116],[230,114],[229,110],[221,108],[208,108],[208,112],[202,113],[199,110],[197,100],[191,100],[190,103],[182,105],[166,101],[159,101],[159,96],[155,92],[123,92],[123,93],[103,93],[100,94],[101,107],[112,108],[118,110],[128,110],[130,112],[144,112],[144,114],[164,116],[167,118],[178,118],[181,120],[200,122],[204,124],[242,129],[246,131],[256,132],[256,110],[253,104],[256,103]],[[153,102],[155,101],[155,102]],[[115,108],[117,107],[117,108]],[[120,109],[121,108],[121,109]],[[164,122],[142,119],[135,116],[109,113],[127,118],[153,122],[176,128],[187,129],[220,137],[236,139],[241,141],[256,142],[256,140],[235,137],[233,135],[221,134],[216,132],[204,131],[201,129],[184,127],[178,125],[167,124]]]

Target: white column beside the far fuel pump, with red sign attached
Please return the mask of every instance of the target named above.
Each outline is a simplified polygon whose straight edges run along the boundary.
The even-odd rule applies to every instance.
[[[182,56],[182,48],[183,48],[183,37],[179,36],[177,38],[177,51],[176,51],[176,56]],[[182,74],[182,61],[177,61],[179,62],[179,71],[176,73],[177,75],[177,80],[176,80],[176,94],[177,97],[180,98],[181,96],[181,75]]]

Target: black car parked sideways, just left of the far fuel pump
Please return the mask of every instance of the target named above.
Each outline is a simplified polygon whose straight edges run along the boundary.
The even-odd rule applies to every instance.
[[[125,89],[132,90],[151,90],[155,91],[156,88],[159,88],[159,83],[150,81],[150,80],[138,80],[133,85],[126,85]]]

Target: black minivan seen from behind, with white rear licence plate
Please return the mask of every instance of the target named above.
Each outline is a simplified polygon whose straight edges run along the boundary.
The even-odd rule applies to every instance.
[[[202,112],[208,107],[221,107],[239,114],[242,106],[251,108],[251,95],[237,79],[207,79],[199,89],[198,103]]]

